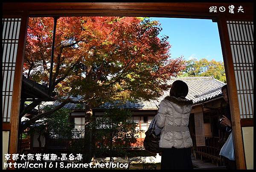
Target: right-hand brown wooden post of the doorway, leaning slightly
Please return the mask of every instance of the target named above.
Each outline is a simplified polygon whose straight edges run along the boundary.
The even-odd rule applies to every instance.
[[[233,66],[233,57],[231,52],[229,34],[227,29],[227,19],[220,18],[218,20],[218,29],[221,39],[222,54],[224,57],[224,67],[227,76],[228,96],[230,97],[229,103],[236,155],[236,167],[237,169],[246,169],[243,138],[240,124],[239,102],[236,90],[236,78]]]

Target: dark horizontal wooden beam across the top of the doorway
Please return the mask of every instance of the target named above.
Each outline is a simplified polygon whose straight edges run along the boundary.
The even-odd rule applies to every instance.
[[[228,6],[243,6],[244,13],[231,14]],[[224,6],[224,12],[209,12],[209,7]],[[253,3],[3,3],[3,14],[44,16],[140,16],[140,17],[178,17],[178,18],[248,18],[253,16]]]

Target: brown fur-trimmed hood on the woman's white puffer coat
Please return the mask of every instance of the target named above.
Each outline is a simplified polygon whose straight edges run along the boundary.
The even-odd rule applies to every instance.
[[[182,114],[188,113],[191,110],[192,104],[193,104],[192,100],[188,100],[185,97],[176,98],[174,96],[166,96],[164,99],[167,100],[166,103],[169,106],[174,107],[178,113],[182,113]]]

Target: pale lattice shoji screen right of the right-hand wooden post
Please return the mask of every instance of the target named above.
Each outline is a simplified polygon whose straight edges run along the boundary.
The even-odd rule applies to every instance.
[[[241,118],[253,118],[253,22],[227,21]]]

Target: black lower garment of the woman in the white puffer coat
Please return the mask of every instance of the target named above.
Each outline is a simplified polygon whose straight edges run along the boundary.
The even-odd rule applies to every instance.
[[[161,169],[193,169],[191,147],[162,148]]]

